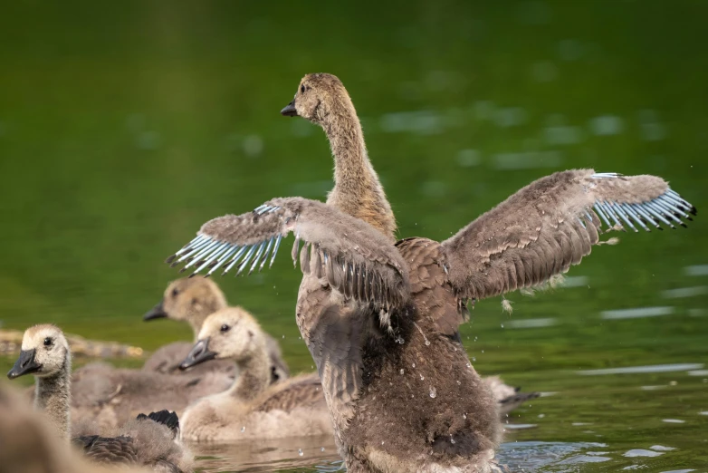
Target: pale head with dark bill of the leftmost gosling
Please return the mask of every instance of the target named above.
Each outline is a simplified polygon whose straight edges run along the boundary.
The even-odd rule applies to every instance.
[[[70,356],[69,343],[59,327],[49,323],[34,325],[24,331],[20,358],[7,377],[14,380],[25,374],[53,376],[65,369]]]

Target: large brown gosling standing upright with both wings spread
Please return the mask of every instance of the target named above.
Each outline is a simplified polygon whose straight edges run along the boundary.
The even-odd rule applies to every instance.
[[[341,132],[359,135],[349,105],[339,79],[311,74],[283,112],[328,136],[344,116],[350,126]],[[349,472],[480,472],[497,468],[501,428],[492,393],[459,340],[466,302],[567,271],[599,243],[603,222],[674,227],[694,213],[663,179],[579,169],[531,183],[442,243],[414,237],[394,246],[334,206],[275,198],[207,222],[168,262],[195,273],[250,273],[273,262],[282,237],[295,233],[293,260],[305,243],[297,323]]]

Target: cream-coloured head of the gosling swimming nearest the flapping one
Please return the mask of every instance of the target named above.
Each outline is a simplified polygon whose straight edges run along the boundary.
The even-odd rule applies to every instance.
[[[198,341],[179,369],[215,359],[248,362],[255,353],[265,352],[265,343],[254,317],[240,307],[229,307],[206,317]]]

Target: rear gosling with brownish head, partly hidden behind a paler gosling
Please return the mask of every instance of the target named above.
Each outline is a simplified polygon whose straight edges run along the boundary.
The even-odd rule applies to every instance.
[[[218,285],[205,277],[182,278],[167,285],[165,294],[155,307],[143,319],[146,321],[159,318],[189,323],[194,333],[195,341],[202,328],[202,323],[209,314],[227,307],[226,298]],[[267,350],[271,358],[271,381],[285,380],[290,376],[288,365],[282,360],[280,345],[267,333],[263,333],[267,342]],[[185,372],[178,369],[179,363],[185,359],[192,349],[193,343],[169,343],[148,358],[143,370],[148,372],[167,372],[176,374]],[[235,366],[232,362],[211,362],[201,364],[187,370],[185,373],[196,372],[226,372],[235,376]]]

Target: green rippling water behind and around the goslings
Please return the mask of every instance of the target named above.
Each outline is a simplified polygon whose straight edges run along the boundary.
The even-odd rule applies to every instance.
[[[0,320],[148,350],[188,339],[177,323],[141,321],[177,277],[163,259],[206,219],[331,186],[321,131],[278,113],[305,72],[347,85],[400,236],[445,238],[569,168],[661,175],[708,208],[707,14],[697,0],[5,5]],[[700,213],[688,229],[620,235],[570,270],[585,278],[573,287],[510,294],[512,315],[499,299],[477,304],[463,327],[477,370],[556,392],[512,415],[532,427],[511,431],[502,460],[705,471],[708,366],[577,372],[708,364],[707,231]],[[293,320],[300,277],[283,256],[261,275],[216,281],[307,371]],[[665,292],[686,287],[696,289]],[[669,309],[602,318],[637,307]],[[528,319],[551,324],[514,328]],[[318,463],[306,443],[290,464],[248,468]],[[656,445],[673,450],[625,456]],[[200,464],[245,468],[229,451]]]

